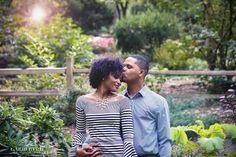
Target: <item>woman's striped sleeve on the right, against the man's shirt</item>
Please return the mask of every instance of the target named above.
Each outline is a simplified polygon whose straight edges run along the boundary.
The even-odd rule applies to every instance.
[[[133,146],[133,119],[131,104],[128,98],[125,98],[121,104],[121,132],[124,141],[124,157],[136,157]]]

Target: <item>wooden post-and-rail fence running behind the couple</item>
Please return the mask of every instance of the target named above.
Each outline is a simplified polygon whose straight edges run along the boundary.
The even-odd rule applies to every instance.
[[[74,74],[88,74],[89,69],[74,69],[72,58],[66,59],[66,67],[62,68],[4,68],[0,69],[0,76],[9,75],[29,75],[29,74],[66,74],[67,89],[73,87]],[[150,70],[149,74],[153,75],[208,75],[208,76],[236,76],[236,71],[192,71],[192,70]],[[39,91],[3,91],[0,90],[0,96],[57,96],[64,91],[56,90],[39,90]]]

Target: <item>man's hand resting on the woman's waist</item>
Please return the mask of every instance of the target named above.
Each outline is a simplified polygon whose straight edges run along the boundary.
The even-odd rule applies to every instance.
[[[85,147],[77,147],[76,155],[79,157],[101,157],[101,149],[98,148],[99,144],[88,144]]]

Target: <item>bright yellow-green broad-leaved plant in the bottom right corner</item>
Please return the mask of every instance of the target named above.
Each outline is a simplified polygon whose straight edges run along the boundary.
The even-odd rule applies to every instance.
[[[226,138],[224,132],[235,134],[235,125],[215,123],[210,125],[209,129],[205,129],[202,121],[196,121],[196,123],[196,125],[192,126],[178,126],[171,128],[171,138],[174,141],[172,155],[225,156],[234,153],[233,150],[226,152],[227,154],[221,152],[224,149]],[[233,136],[230,138],[233,138]]]

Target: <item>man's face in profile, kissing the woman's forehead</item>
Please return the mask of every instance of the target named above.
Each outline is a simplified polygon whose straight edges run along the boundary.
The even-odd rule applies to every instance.
[[[136,64],[136,61],[132,57],[128,57],[124,61],[122,81],[126,83],[136,82],[143,77],[143,70]]]

